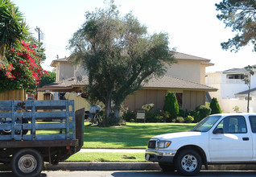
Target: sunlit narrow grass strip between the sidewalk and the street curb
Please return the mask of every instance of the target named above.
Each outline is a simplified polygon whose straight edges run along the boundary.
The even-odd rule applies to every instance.
[[[145,153],[78,152],[65,162],[146,162]]]

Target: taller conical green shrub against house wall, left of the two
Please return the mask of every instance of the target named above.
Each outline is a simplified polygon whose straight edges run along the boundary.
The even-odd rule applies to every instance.
[[[170,113],[171,119],[179,115],[180,109],[177,98],[175,97],[175,93],[167,93],[167,95],[165,96],[163,110]]]

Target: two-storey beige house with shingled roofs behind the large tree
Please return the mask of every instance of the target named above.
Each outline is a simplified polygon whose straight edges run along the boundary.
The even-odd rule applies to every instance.
[[[208,59],[180,52],[175,52],[175,60],[177,63],[171,64],[171,67],[166,65],[166,76],[144,83],[143,88],[127,97],[124,104],[132,110],[141,109],[148,103],[154,103],[156,109],[163,109],[165,95],[170,91],[176,94],[183,109],[191,110],[204,105],[205,93],[217,91],[217,88],[205,85],[205,68],[213,64]],[[85,69],[72,66],[67,59],[54,60],[51,66],[57,72],[56,83],[39,88],[41,90],[77,92],[88,82]]]

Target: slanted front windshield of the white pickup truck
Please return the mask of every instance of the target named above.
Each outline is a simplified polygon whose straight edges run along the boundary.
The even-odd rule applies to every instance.
[[[219,118],[221,118],[221,116],[205,117],[202,121],[196,124],[196,126],[191,131],[207,132],[213,127]]]

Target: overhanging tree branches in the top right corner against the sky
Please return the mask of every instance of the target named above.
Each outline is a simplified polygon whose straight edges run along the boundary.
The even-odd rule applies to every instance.
[[[221,43],[225,50],[238,51],[240,47],[252,43],[256,51],[256,1],[255,0],[223,0],[216,4],[217,18],[232,27],[237,35],[227,42]]]

